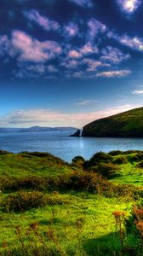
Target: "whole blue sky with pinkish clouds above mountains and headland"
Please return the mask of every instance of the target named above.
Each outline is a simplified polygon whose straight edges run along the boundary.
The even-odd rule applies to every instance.
[[[0,127],[143,106],[142,0],[1,0]]]

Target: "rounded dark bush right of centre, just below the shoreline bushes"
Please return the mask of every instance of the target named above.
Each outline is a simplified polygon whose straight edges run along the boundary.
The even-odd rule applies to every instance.
[[[118,166],[115,164],[100,163],[98,166],[95,166],[94,171],[99,172],[103,177],[112,178],[116,176],[118,169]]]

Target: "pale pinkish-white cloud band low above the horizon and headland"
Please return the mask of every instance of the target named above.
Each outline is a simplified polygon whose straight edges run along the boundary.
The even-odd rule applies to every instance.
[[[140,105],[123,105],[90,113],[71,114],[54,112],[47,109],[15,110],[4,117],[0,116],[0,127],[63,126],[64,124],[65,126],[82,128],[83,125],[87,125],[95,119],[104,118],[137,107],[140,107]]]

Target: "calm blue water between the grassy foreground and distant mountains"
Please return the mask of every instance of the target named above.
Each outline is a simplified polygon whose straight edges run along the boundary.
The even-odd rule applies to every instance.
[[[72,133],[73,131],[1,133],[0,149],[14,153],[20,151],[49,152],[66,161],[71,161],[76,155],[89,159],[99,151],[143,150],[143,138],[69,137]]]

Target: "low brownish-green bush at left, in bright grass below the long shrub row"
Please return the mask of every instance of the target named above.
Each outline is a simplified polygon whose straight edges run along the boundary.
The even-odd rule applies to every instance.
[[[8,195],[3,201],[3,208],[6,212],[23,212],[31,208],[44,207],[47,204],[61,204],[62,202],[58,193],[55,195],[45,195],[39,191],[20,191]]]

